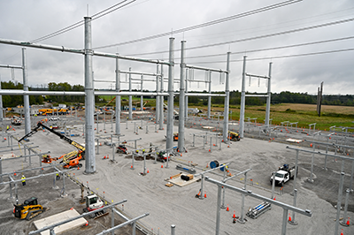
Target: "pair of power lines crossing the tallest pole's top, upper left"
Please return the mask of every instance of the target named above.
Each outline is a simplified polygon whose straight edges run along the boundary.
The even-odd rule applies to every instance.
[[[123,5],[120,5],[120,6],[117,7],[116,9],[111,10],[112,8],[118,6],[119,4],[114,4],[114,5],[112,5],[111,7],[105,9],[104,11],[99,11],[99,12],[97,12],[96,14],[94,14],[94,15],[91,16],[92,21],[95,20],[95,19],[99,19],[99,18],[103,17],[103,16],[106,15],[106,14],[111,13],[112,11],[117,11],[117,10],[119,10],[120,8],[126,6],[127,4],[132,4],[132,3],[134,3],[136,0],[132,0],[131,2],[129,2],[129,3],[127,3],[127,4],[124,4],[124,3],[127,2],[127,1],[128,1],[128,0],[121,1],[119,4],[123,4]],[[111,11],[109,11],[109,10],[111,10]],[[108,11],[108,12],[105,12],[105,11]],[[102,14],[102,15],[100,15],[100,14]],[[58,30],[58,31],[56,31],[56,32],[54,32],[54,33],[47,34],[47,35],[45,35],[45,36],[42,36],[42,37],[37,38],[37,39],[35,39],[35,40],[32,40],[32,41],[30,41],[30,42],[31,42],[31,43],[41,42],[41,41],[50,39],[50,38],[52,38],[52,37],[58,36],[59,34],[64,34],[64,33],[68,32],[68,31],[73,30],[74,28],[81,27],[81,26],[84,25],[84,24],[85,24],[85,23],[84,23],[84,20],[80,20],[80,21],[74,23],[74,24],[71,25],[71,26],[62,28],[62,29],[60,29],[60,30]]]

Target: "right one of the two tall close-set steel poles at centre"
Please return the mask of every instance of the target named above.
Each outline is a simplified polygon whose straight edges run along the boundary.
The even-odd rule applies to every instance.
[[[180,72],[180,109],[178,114],[178,148],[181,152],[184,152],[184,77],[186,74],[186,63],[184,60],[186,41],[181,42],[181,72]],[[169,107],[170,109],[170,107]]]

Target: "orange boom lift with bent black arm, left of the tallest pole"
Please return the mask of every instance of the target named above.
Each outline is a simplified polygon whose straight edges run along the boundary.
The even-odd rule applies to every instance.
[[[78,142],[67,138],[64,134],[57,133],[52,128],[48,127],[47,125],[43,125],[41,122],[38,122],[37,126],[35,126],[35,129],[33,129],[32,132],[27,133],[27,135],[25,135],[21,139],[19,139],[19,142],[21,140],[27,139],[28,137],[37,133],[38,129],[40,129],[41,127],[47,129],[48,131],[50,131],[50,133],[54,133],[54,134],[58,135],[58,137],[60,137],[60,139],[65,140],[69,144],[73,145],[75,148],[78,148],[78,151],[73,151],[73,152],[67,153],[65,155],[61,155],[59,157],[50,157],[50,155],[43,155],[42,163],[51,163],[52,161],[58,161],[59,159],[63,158],[63,163],[65,163],[63,168],[71,168],[71,167],[76,167],[76,166],[81,167],[82,166],[82,164],[79,163],[79,161],[81,159],[85,159],[85,147],[81,146],[81,144],[79,144]]]

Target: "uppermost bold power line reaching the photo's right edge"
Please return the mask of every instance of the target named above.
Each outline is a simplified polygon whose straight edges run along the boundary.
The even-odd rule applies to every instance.
[[[354,20],[354,18],[342,19],[342,20],[337,20],[337,21],[333,21],[333,22],[329,22],[329,23],[319,24],[319,25],[315,25],[315,26],[311,26],[311,27],[300,27],[300,28],[296,28],[296,29],[292,29],[292,30],[282,31],[282,32],[278,32],[278,33],[273,33],[273,34],[264,34],[264,35],[259,35],[259,36],[250,37],[250,38],[243,38],[243,39],[238,39],[238,40],[233,40],[233,41],[206,44],[206,45],[203,45],[203,46],[196,46],[196,47],[186,48],[186,50],[215,47],[215,46],[221,46],[221,45],[230,44],[230,43],[236,43],[236,42],[247,42],[247,41],[262,39],[262,38],[266,38],[266,37],[279,36],[279,35],[282,35],[282,34],[292,34],[292,33],[297,33],[297,32],[306,31],[306,30],[310,30],[310,29],[315,29],[315,28],[319,28],[319,27],[328,27],[328,26],[333,26],[333,25],[337,25],[337,24],[342,24],[342,23],[353,21],[353,20]],[[180,51],[180,49],[175,49],[174,51]],[[133,55],[129,55],[129,56],[153,55],[153,54],[162,54],[162,53],[166,53],[166,52],[169,52],[169,51],[168,50],[164,50],[164,51],[158,51],[158,52],[148,52],[148,53],[143,53],[143,54],[135,54],[135,55],[133,54]]]

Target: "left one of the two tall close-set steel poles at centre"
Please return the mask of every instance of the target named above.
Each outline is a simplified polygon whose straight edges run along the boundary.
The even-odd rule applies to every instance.
[[[173,76],[174,76],[173,42],[174,42],[174,38],[170,38],[170,50],[169,50],[170,64],[168,66],[168,105],[167,105],[168,108],[167,108],[166,149],[173,148]]]

